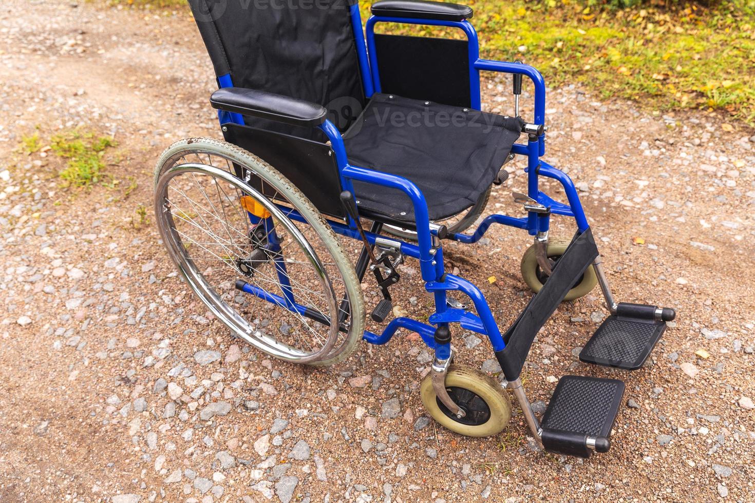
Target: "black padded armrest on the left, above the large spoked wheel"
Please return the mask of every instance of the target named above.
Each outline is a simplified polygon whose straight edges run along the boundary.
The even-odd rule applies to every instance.
[[[294,126],[319,126],[328,110],[309,101],[242,87],[223,87],[210,97],[212,108]]]

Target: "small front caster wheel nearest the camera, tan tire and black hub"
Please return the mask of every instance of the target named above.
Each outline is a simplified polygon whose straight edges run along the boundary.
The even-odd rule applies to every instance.
[[[433,391],[432,375],[422,381],[422,404],[430,416],[451,431],[467,437],[489,437],[500,433],[511,417],[511,403],[501,385],[471,367],[451,365],[445,374],[445,388],[451,400],[466,413],[457,418]]]

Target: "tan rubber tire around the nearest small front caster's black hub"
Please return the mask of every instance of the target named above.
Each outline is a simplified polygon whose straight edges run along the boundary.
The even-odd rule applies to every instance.
[[[427,374],[420,385],[422,404],[440,425],[465,437],[490,437],[506,428],[511,418],[511,403],[504,388],[501,388],[501,384],[491,376],[472,367],[452,364],[445,374],[445,385],[464,388],[478,394],[490,407],[490,419],[482,425],[462,425],[446,416],[438,406],[432,374]]]

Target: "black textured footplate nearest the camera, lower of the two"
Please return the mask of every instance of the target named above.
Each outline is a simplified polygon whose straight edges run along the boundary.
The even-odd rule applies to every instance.
[[[608,452],[624,382],[563,376],[543,416],[542,439],[548,452],[589,458]]]

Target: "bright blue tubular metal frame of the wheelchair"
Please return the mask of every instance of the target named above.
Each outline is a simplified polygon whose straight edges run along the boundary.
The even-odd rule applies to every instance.
[[[362,85],[365,91],[365,97],[371,97],[374,93],[381,92],[380,75],[377,70],[377,54],[374,45],[374,26],[376,23],[406,23],[406,24],[420,24],[428,26],[446,26],[451,28],[461,29],[467,35],[467,44],[469,47],[469,72],[470,72],[470,91],[471,91],[471,106],[474,109],[480,109],[480,87],[479,87],[479,72],[504,72],[512,74],[526,75],[532,81],[535,87],[535,113],[534,123],[543,125],[545,122],[545,83],[542,75],[537,69],[529,65],[523,65],[519,63],[507,63],[502,61],[482,60],[479,58],[479,41],[477,39],[477,33],[473,26],[467,21],[442,21],[442,20],[424,20],[405,17],[377,17],[371,16],[366,23],[365,32],[362,32],[362,20],[359,15],[359,6],[352,5],[350,7],[350,19],[353,26],[354,37],[356,40],[356,50],[359,61],[359,70],[361,72]],[[366,34],[366,35],[365,35]],[[233,82],[230,75],[223,75],[218,78],[218,84],[220,87],[231,87]],[[218,118],[221,124],[232,122],[234,124],[244,124],[244,118],[242,115],[230,112],[219,112]],[[408,179],[402,176],[396,176],[390,173],[383,173],[380,171],[370,170],[365,167],[354,166],[349,164],[347,158],[347,152],[344,147],[344,140],[341,137],[341,132],[335,127],[331,121],[325,121],[319,128],[325,133],[330,140],[331,149],[334,152],[334,158],[336,160],[338,172],[341,178],[341,186],[344,190],[348,190],[353,193],[353,180],[359,182],[373,183],[378,186],[384,186],[391,189],[398,189],[405,193],[411,200],[411,204],[414,207],[414,219],[415,228],[417,231],[417,243],[407,243],[393,239],[393,241],[400,243],[400,250],[405,256],[418,259],[420,262],[420,271],[422,279],[425,282],[425,289],[433,293],[435,300],[435,312],[430,315],[428,321],[430,324],[424,324],[420,321],[412,320],[407,317],[396,317],[393,321],[385,327],[380,335],[365,331],[363,339],[371,344],[385,344],[388,342],[399,330],[399,328],[405,328],[413,332],[420,334],[422,340],[430,348],[436,351],[436,356],[439,358],[448,357],[450,354],[450,347],[448,344],[436,345],[433,339],[436,327],[448,325],[451,323],[458,323],[461,327],[467,330],[472,330],[476,333],[481,333],[488,336],[491,345],[495,351],[501,351],[505,347],[503,336],[501,336],[501,330],[498,328],[498,324],[495,322],[492,311],[488,302],[485,300],[485,296],[478,287],[473,285],[463,278],[458,278],[454,275],[449,275],[445,272],[443,265],[443,251],[442,247],[433,247],[433,231],[430,230],[430,217],[427,212],[427,201],[425,201],[424,195],[417,186],[414,185]],[[517,155],[525,155],[527,157],[527,192],[530,198],[543,204],[545,207],[550,208],[550,213],[563,216],[572,216],[575,219],[577,227],[580,232],[584,232],[588,228],[587,219],[584,216],[584,210],[582,209],[579,201],[579,195],[575,189],[572,179],[565,173],[557,170],[555,167],[541,161],[541,156],[545,153],[544,134],[539,137],[530,137],[526,144],[515,143],[512,152]],[[541,192],[538,188],[538,176],[546,176],[551,179],[558,180],[564,187],[566,198],[569,204],[563,204],[559,201],[554,201],[550,196]],[[279,207],[286,215],[295,221],[306,222],[303,216],[297,213],[296,210],[291,210],[288,207]],[[260,222],[253,215],[249,215],[253,224],[259,224]],[[332,220],[327,221],[334,232],[339,235],[346,236],[347,238],[361,239],[359,231],[357,230],[357,222],[349,218],[348,223],[334,222]],[[263,222],[266,223],[266,222]],[[489,215],[482,223],[476,228],[471,235],[455,234],[449,235],[448,239],[459,241],[461,243],[476,243],[485,235],[488,228],[492,224],[508,225],[514,228],[525,229],[530,235],[536,235],[538,232],[547,232],[550,226],[550,215],[542,213],[530,212],[525,218],[517,218],[507,215]],[[271,244],[275,246],[275,231],[273,228],[268,229],[266,223],[266,232],[268,236],[273,236]],[[365,232],[367,241],[370,244],[375,244],[378,237],[377,234],[372,232]],[[278,262],[282,262],[279,265]],[[250,293],[261,299],[266,299],[274,304],[281,305],[284,308],[288,308],[291,311],[299,314],[304,314],[306,308],[295,302],[294,296],[291,293],[290,288],[286,288],[288,285],[287,274],[285,272],[285,263],[282,260],[276,261],[276,271],[281,278],[282,284],[282,296],[269,293],[258,287],[246,284],[242,288],[246,293]],[[450,308],[446,302],[446,293],[451,290],[458,290],[466,294],[472,301],[476,314],[465,311],[458,308]],[[433,327],[433,325],[435,327]]]

